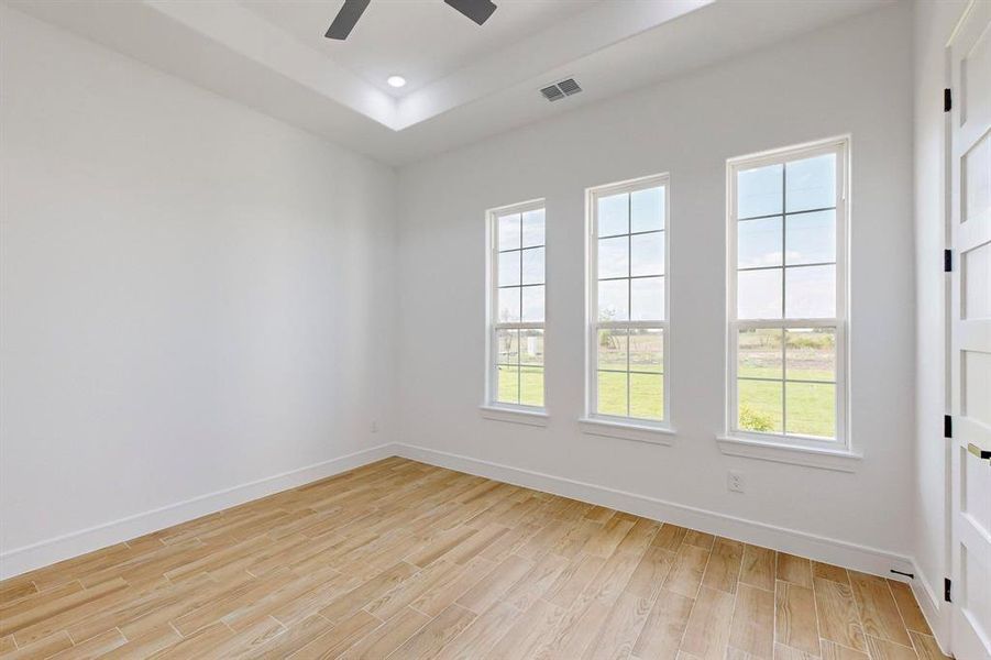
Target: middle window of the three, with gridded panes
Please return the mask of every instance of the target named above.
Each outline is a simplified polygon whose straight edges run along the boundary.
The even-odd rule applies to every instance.
[[[588,416],[668,419],[668,177],[588,191]]]

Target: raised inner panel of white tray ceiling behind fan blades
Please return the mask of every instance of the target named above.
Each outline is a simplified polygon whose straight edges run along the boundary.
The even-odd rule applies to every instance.
[[[507,0],[478,26],[440,0],[375,0],[346,41],[323,36],[344,0],[239,0],[300,43],[396,97],[489,57],[599,0]],[[390,75],[406,78],[396,90]]]

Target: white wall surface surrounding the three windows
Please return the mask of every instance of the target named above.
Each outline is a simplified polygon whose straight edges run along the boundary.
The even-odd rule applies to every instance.
[[[911,34],[911,6],[892,6],[401,169],[399,441],[428,450],[414,455],[625,491],[678,505],[654,510],[715,530],[785,543],[801,537],[811,544],[792,547],[906,570],[899,560],[912,537],[915,400]],[[863,461],[847,474],[725,457],[714,438],[724,418],[726,158],[841,133],[852,135],[851,414]],[[660,172],[671,174],[672,200],[670,448],[583,435],[575,422],[583,191]],[[536,197],[548,213],[546,429],[477,410],[483,212]],[[727,492],[731,468],[746,476],[744,495]],[[801,534],[775,536],[773,527]],[[817,546],[814,537],[839,542]]]

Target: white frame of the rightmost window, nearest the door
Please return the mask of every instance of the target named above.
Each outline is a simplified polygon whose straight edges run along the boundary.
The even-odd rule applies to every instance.
[[[762,167],[778,163],[786,163],[836,154],[836,317],[828,319],[777,319],[777,320],[739,320],[737,319],[737,173],[744,169]],[[727,382],[726,382],[726,437],[748,442],[779,444],[789,448],[808,448],[812,450],[850,451],[849,418],[849,217],[850,217],[850,138],[849,135],[788,146],[747,156],[729,158],[726,162],[726,346],[727,346]],[[786,183],[784,184],[786,186]],[[782,209],[782,217],[785,215]],[[782,241],[786,240],[786,222],[782,228]],[[782,273],[782,287],[786,277]],[[782,408],[782,432],[759,432],[742,430],[737,427],[738,393],[738,334],[740,330],[759,328],[836,328],[836,405],[835,431],[830,439],[797,433],[786,433],[786,408]],[[784,345],[782,345],[784,351]],[[782,369],[785,370],[782,354]],[[785,382],[786,373],[782,374]],[[785,386],[786,387],[786,386]],[[786,406],[786,397],[782,402]]]

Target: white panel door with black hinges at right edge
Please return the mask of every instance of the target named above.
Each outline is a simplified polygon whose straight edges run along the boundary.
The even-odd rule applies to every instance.
[[[953,632],[960,660],[991,659],[991,1],[949,44],[953,272]]]

